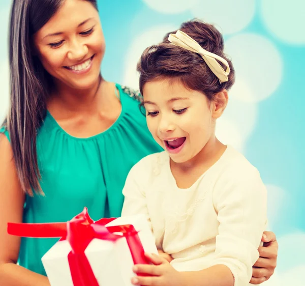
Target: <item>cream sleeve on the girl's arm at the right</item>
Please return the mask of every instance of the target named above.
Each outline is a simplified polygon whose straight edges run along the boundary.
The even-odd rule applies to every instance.
[[[213,195],[220,224],[211,266],[226,265],[234,276],[234,286],[248,285],[267,222],[266,188],[255,169],[251,175],[239,174],[236,180],[221,180]]]

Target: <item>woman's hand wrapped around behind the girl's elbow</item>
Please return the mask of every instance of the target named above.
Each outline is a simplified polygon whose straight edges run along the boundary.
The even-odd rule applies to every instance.
[[[258,248],[259,259],[253,266],[253,274],[250,283],[260,284],[267,281],[275,272],[278,259],[279,244],[276,235],[272,232],[264,232],[263,246]]]

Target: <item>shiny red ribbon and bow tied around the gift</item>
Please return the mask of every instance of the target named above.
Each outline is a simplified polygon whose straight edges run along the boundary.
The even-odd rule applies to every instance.
[[[85,249],[95,238],[116,241],[122,238],[113,233],[123,233],[130,249],[134,264],[148,264],[138,233],[131,224],[105,225],[115,218],[102,218],[94,222],[87,208],[68,222],[55,223],[8,223],[8,233],[20,237],[52,238],[68,240],[71,251],[68,261],[74,286],[99,286],[97,278],[85,255]]]

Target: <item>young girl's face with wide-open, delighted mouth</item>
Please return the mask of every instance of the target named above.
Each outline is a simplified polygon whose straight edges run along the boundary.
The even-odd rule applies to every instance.
[[[148,129],[174,162],[190,161],[214,138],[219,110],[201,92],[162,79],[145,83],[143,97]]]

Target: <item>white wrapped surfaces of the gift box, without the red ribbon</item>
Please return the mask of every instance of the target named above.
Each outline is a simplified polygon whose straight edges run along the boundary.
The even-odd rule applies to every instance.
[[[145,252],[158,254],[155,238],[144,215],[119,217],[106,226],[132,224],[138,232]],[[71,246],[67,240],[58,241],[43,256],[42,263],[51,286],[74,286],[70,272],[68,254]],[[113,241],[93,239],[85,255],[101,286],[132,286],[134,265],[129,246],[124,237]]]

